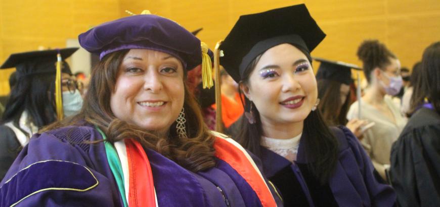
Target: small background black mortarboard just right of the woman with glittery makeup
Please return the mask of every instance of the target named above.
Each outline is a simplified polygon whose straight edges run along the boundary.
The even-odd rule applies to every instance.
[[[330,61],[316,57],[313,59],[321,62],[318,72],[316,73],[317,80],[328,79],[349,85],[353,82],[353,79],[351,79],[351,69],[362,70],[362,68],[354,64]]]

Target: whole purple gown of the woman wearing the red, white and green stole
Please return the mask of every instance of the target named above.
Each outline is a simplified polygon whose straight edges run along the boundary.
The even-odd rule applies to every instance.
[[[89,126],[34,135],[0,183],[0,206],[124,206],[125,198],[108,162],[105,142],[84,143],[102,139]],[[221,152],[216,148],[216,153]],[[156,196],[158,206],[262,206],[260,192],[251,187],[254,183],[248,183],[233,164],[217,154],[216,166],[198,173],[153,150],[145,149],[145,155],[150,162],[153,198]],[[260,165],[255,161],[255,165]],[[138,166],[141,165],[134,165]],[[130,191],[129,196],[132,195]],[[278,198],[275,201],[282,205]]]

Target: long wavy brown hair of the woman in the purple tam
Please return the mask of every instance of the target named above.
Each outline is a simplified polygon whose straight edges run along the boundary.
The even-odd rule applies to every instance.
[[[114,143],[125,138],[138,140],[143,147],[153,149],[180,166],[193,171],[202,171],[215,166],[213,148],[214,138],[203,122],[200,108],[185,82],[185,119],[188,138],[180,138],[175,130],[177,123],[169,129],[168,137],[158,137],[139,126],[129,124],[114,116],[110,108],[110,96],[115,90],[119,65],[128,49],[116,51],[103,58],[92,70],[89,89],[84,98],[80,113],[72,118],[56,122],[42,131],[71,125],[95,125],[107,136],[107,141]],[[103,140],[100,140],[101,142]]]

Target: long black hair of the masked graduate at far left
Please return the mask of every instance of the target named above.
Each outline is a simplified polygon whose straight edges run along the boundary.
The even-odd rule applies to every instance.
[[[27,111],[29,118],[38,128],[54,122],[56,120],[54,94],[55,74],[19,77],[17,84],[11,88],[2,124],[13,121],[17,128],[27,134],[18,124],[23,111]]]

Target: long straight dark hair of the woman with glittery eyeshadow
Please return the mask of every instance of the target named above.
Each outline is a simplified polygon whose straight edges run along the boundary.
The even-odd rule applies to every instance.
[[[293,45],[307,57],[312,64],[312,57],[310,53],[301,46]],[[249,76],[258,63],[261,55],[256,57],[244,71],[241,77],[241,84],[247,84]],[[242,93],[242,91],[239,91]],[[241,95],[243,97],[244,95]],[[262,127],[259,118],[258,110],[252,101],[246,96],[242,99],[243,108],[246,112],[252,109],[256,123],[250,124],[247,119],[241,119],[241,131],[237,136],[237,141],[246,149],[254,153],[256,156],[261,156],[261,136]],[[303,133],[307,134],[307,139],[304,140],[305,154],[307,158],[315,162],[309,163],[308,167],[314,176],[322,183],[328,182],[333,175],[334,167],[336,166],[338,156],[338,140],[330,131],[329,127],[323,121],[319,110],[312,111],[304,120]]]

